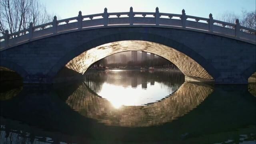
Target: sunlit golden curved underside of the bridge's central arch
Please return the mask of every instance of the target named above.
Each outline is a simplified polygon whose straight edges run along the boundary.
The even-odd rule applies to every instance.
[[[195,60],[169,46],[142,40],[126,40],[91,48],[66,64],[66,67],[84,74],[94,62],[124,51],[144,51],[166,58],[175,64],[185,76],[213,80],[214,78]]]

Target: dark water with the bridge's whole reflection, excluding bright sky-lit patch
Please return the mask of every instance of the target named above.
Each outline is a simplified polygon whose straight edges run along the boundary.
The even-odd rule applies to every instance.
[[[118,109],[83,82],[6,94],[12,99],[1,99],[1,144],[255,141],[255,97],[246,85],[184,82],[159,102]]]

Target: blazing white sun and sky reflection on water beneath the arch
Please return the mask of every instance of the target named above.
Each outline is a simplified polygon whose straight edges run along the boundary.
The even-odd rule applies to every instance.
[[[146,82],[144,87],[146,88],[142,88],[142,84],[137,88],[132,88],[131,86],[124,87],[104,83],[98,95],[111,102],[114,108],[120,108],[121,106],[141,106],[156,102],[173,92],[172,88],[160,82],[155,82],[154,86],[150,86],[150,83]],[[159,91],[159,88],[162,90]]]

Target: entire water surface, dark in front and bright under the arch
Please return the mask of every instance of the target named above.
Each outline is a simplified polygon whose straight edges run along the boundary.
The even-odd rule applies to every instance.
[[[1,88],[1,144],[255,144],[255,85],[179,71],[89,71],[83,81]],[[248,88],[249,87],[249,88]]]

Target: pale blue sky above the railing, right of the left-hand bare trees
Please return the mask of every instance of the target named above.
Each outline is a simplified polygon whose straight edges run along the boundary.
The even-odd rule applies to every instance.
[[[78,15],[108,12],[128,12],[130,6],[134,12],[154,12],[158,6],[160,12],[181,14],[182,9],[187,15],[208,18],[220,16],[224,12],[240,14],[242,10],[255,10],[256,0],[41,0],[49,13],[61,19]],[[59,19],[59,18],[58,18]]]

